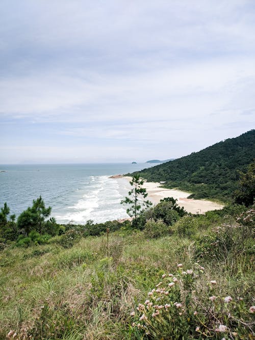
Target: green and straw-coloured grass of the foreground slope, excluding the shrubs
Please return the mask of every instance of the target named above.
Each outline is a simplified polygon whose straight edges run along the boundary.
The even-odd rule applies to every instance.
[[[197,236],[233,219],[198,221]],[[32,332],[34,339],[130,338],[130,312],[163,273],[174,272],[179,263],[192,267],[189,246],[195,238],[147,240],[143,232],[120,230],[110,234],[109,249],[101,236],[81,239],[70,249],[49,244],[2,251],[0,338],[11,329]],[[206,264],[197,285],[207,289],[205,279],[214,279],[223,296],[248,298],[253,270],[249,256],[229,256]]]

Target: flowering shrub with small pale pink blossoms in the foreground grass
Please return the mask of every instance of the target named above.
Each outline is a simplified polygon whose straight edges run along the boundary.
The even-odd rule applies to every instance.
[[[206,293],[194,290],[203,274],[198,264],[194,269],[163,274],[144,303],[131,312],[131,332],[144,339],[222,339],[252,338],[255,306],[245,305],[240,298],[222,296],[215,280],[207,282]],[[210,279],[209,279],[210,280]]]

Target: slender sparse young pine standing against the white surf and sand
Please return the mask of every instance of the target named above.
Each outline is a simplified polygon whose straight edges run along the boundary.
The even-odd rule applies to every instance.
[[[135,174],[130,181],[133,189],[129,191],[130,197],[125,197],[121,204],[129,204],[126,213],[131,217],[137,217],[142,207],[148,208],[152,203],[149,200],[145,200],[147,197],[146,189],[142,188],[144,180],[140,178],[139,174]]]

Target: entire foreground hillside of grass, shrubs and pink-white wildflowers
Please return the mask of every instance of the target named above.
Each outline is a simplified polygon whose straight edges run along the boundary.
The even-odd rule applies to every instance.
[[[168,199],[4,242],[0,338],[251,339],[254,219],[254,206],[191,215]]]

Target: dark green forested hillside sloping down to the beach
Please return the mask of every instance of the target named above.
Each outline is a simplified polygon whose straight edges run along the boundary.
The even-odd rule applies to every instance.
[[[167,188],[190,191],[195,198],[228,200],[236,190],[239,171],[246,172],[254,158],[255,130],[252,129],[139,174],[148,181],[166,181]]]

